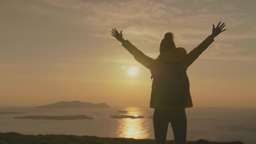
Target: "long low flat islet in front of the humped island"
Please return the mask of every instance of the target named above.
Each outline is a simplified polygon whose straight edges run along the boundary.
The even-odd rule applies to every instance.
[[[53,119],[53,120],[76,120],[76,119],[94,119],[86,115],[71,115],[71,116],[22,116],[14,117],[18,119]]]

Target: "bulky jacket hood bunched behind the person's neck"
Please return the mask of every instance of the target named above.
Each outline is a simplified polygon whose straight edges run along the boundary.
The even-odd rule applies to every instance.
[[[177,47],[161,53],[156,60],[165,62],[181,62],[187,55],[187,51],[183,47]]]

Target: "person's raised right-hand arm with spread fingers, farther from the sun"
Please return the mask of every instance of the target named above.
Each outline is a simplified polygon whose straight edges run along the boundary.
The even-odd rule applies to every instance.
[[[191,65],[201,55],[201,53],[205,51],[209,45],[212,44],[212,42],[214,41],[214,38],[217,35],[219,35],[220,33],[226,30],[226,29],[223,29],[225,27],[224,25],[225,23],[222,23],[222,25],[220,25],[220,23],[221,22],[218,23],[217,27],[212,25],[212,34],[208,36],[205,40],[203,40],[200,45],[195,47],[195,49],[193,49],[188,53],[184,61],[184,64],[186,67],[189,67],[189,65]]]

